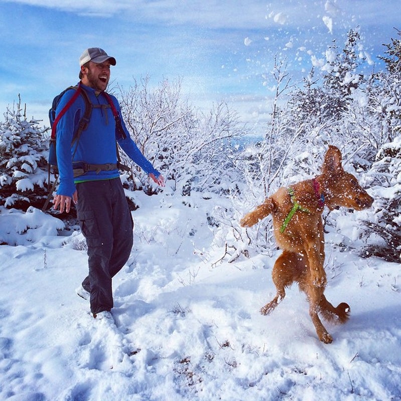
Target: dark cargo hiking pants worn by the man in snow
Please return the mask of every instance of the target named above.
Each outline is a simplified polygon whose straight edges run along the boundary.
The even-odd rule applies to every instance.
[[[131,253],[133,222],[119,178],[76,186],[77,216],[88,246],[89,276],[82,285],[96,314],[113,307],[111,279]]]

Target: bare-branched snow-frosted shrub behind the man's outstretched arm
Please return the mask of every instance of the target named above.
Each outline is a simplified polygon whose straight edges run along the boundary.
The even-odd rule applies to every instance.
[[[132,138],[155,168],[174,183],[174,190],[184,194],[193,188],[227,190],[234,153],[230,149],[235,146],[232,139],[243,134],[244,127],[225,102],[215,105],[209,114],[200,113],[182,99],[181,80],[164,80],[150,89],[145,78],[120,92]],[[153,190],[135,168],[129,180],[133,189]]]

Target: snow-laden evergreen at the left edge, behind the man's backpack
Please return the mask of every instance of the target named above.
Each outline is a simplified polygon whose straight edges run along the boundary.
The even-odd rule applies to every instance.
[[[37,120],[26,118],[21,100],[4,116],[0,122],[0,206],[41,208],[47,194],[45,130]]]

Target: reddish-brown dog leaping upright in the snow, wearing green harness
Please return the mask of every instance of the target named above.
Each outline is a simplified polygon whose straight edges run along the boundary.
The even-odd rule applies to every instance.
[[[308,296],[309,314],[319,339],[332,342],[318,312],[327,320],[344,323],[350,308],[346,303],[334,308],[324,296],[323,208],[326,205],[330,210],[337,206],[362,210],[372,203],[373,198],[361,188],[356,178],[343,170],[341,152],[335,146],[329,146],[320,175],[291,188],[279,188],[262,205],[245,215],[240,222],[242,227],[251,227],[271,214],[274,236],[283,249],[272,271],[277,295],[261,309],[261,313],[270,313],[285,297],[285,287],[296,281]]]

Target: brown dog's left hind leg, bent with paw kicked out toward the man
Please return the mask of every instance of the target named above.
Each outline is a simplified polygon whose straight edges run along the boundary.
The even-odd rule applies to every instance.
[[[277,294],[272,301],[263,306],[260,310],[262,315],[268,315],[274,308],[284,299],[285,287],[289,287],[295,280],[297,280],[297,263],[299,255],[293,252],[284,251],[276,260],[273,270],[272,278],[276,286]]]

